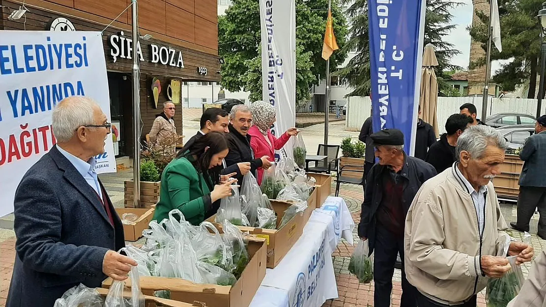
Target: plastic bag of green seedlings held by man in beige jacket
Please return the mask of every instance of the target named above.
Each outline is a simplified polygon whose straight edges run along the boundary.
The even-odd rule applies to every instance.
[[[491,278],[485,291],[485,302],[488,307],[506,307],[518,295],[525,281],[521,267],[515,264],[518,256],[508,257],[512,268],[501,278]]]

